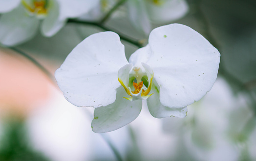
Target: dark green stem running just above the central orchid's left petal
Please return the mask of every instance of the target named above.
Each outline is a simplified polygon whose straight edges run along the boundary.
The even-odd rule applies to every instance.
[[[120,37],[121,40],[125,40],[135,46],[137,46],[138,48],[143,47],[143,44],[140,43],[138,40],[133,40],[132,38],[129,38],[127,35],[122,34],[121,32],[118,32],[112,28],[106,27],[98,22],[90,22],[90,21],[82,21],[82,20],[74,20],[74,19],[69,19],[68,23],[78,23],[78,24],[84,24],[84,25],[93,25],[93,26],[97,26],[99,28],[101,28],[104,31],[113,31],[115,33],[117,33]]]

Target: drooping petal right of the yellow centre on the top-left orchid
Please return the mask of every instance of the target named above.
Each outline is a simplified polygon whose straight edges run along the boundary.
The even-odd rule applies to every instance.
[[[66,23],[66,19],[59,20],[59,4],[51,0],[49,13],[41,25],[41,32],[44,36],[51,37],[56,34]]]

